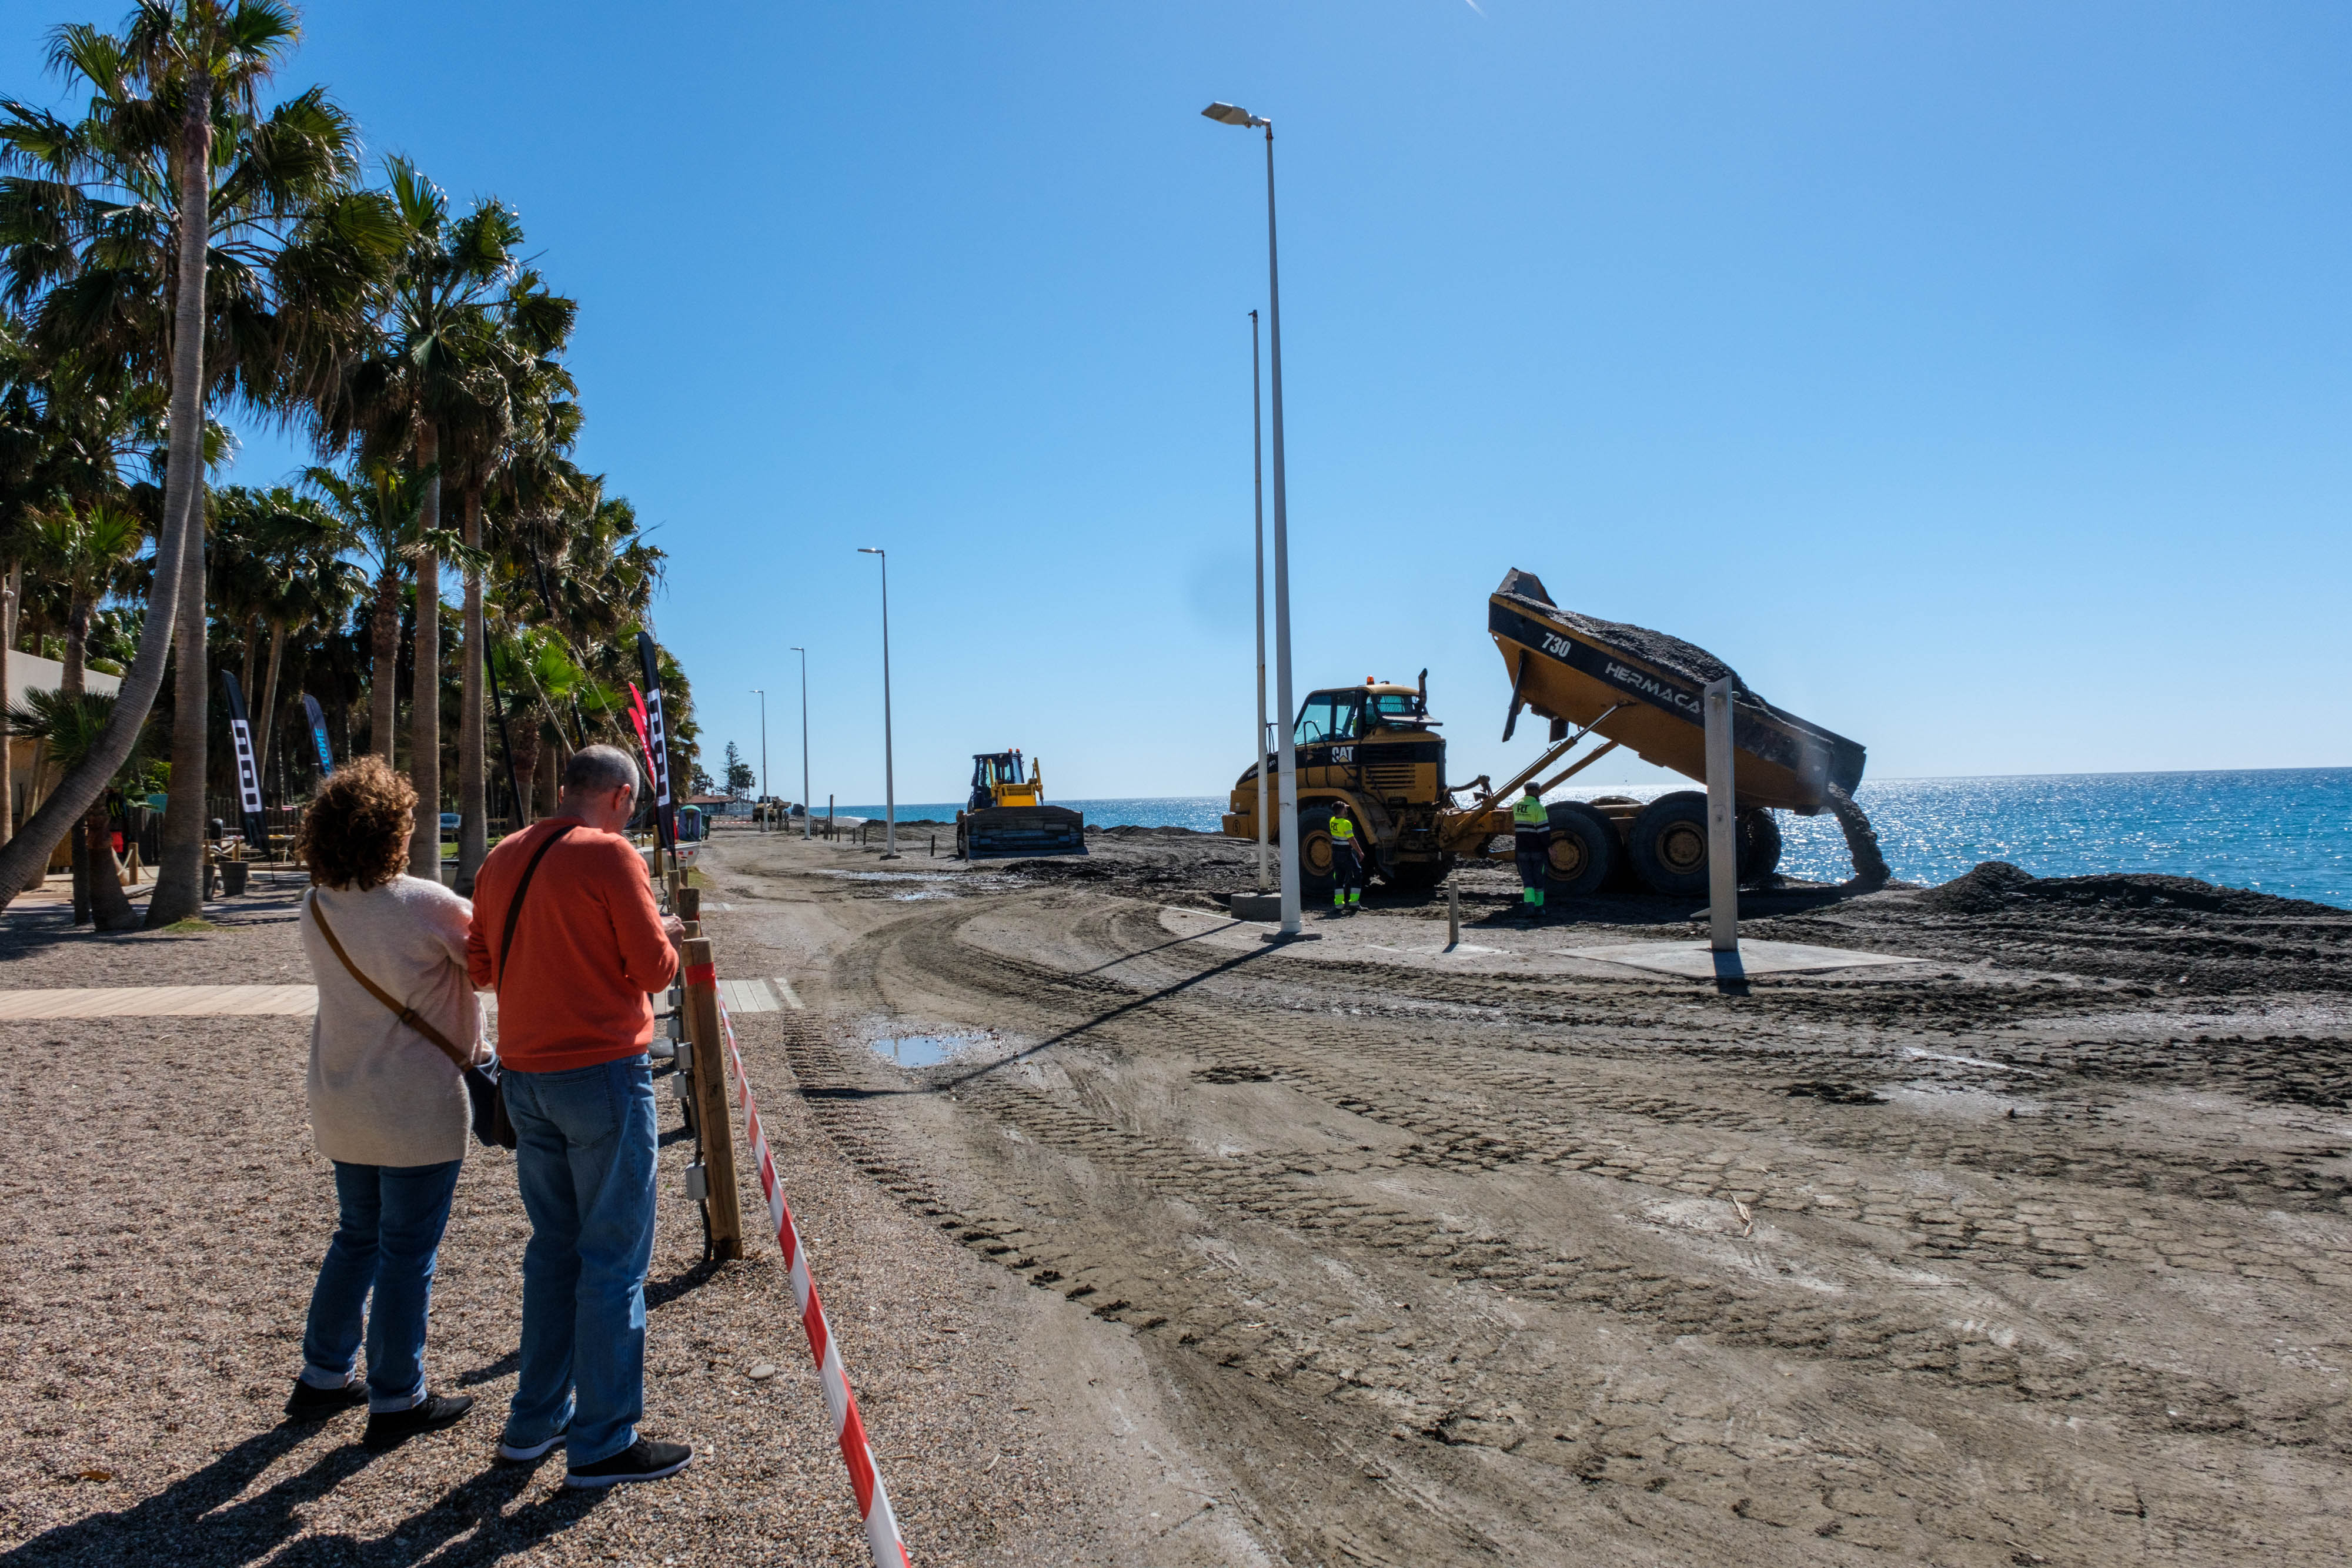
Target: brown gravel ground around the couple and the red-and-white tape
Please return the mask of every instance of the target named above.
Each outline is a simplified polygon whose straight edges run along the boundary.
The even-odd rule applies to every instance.
[[[306,980],[292,891],[205,936],[0,926],[0,983]],[[880,1194],[814,1131],[741,1020],[818,1286],[920,1563],[1105,1561],[1103,1509],[1018,1366],[1033,1293]],[[644,1432],[670,1481],[567,1493],[560,1455],[492,1460],[513,1392],[510,1154],[473,1150],[442,1246],[428,1371],[480,1399],[445,1434],[358,1446],[365,1415],[280,1418],[334,1222],[303,1119],[303,1018],[0,1025],[0,1549],[21,1563],[861,1563],[844,1472],[771,1239],[699,1267],[675,1199],[691,1140],[663,1093]],[[746,1215],[764,1206],[746,1173]],[[774,1366],[753,1380],[755,1366]]]

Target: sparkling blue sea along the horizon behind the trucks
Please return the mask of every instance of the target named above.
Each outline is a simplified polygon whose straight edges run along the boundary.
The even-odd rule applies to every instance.
[[[1691,785],[1595,785],[1550,799],[1653,799]],[[1905,882],[1950,882],[1983,860],[2034,877],[2161,872],[2284,898],[2352,907],[2352,769],[2220,773],[2027,773],[2016,778],[1865,780],[1856,804]],[[1223,795],[1058,799],[1096,827],[1216,832]],[[957,802],[903,804],[898,820],[955,820]],[[844,806],[842,816],[882,816]],[[1830,813],[1780,813],[1780,870],[1842,882],[1853,875]]]

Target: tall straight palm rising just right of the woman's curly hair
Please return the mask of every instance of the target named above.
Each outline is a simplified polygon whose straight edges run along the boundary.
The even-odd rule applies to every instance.
[[[362,456],[407,451],[428,475],[421,529],[442,529],[442,449],[452,425],[501,407],[501,289],[515,273],[522,226],[496,200],[449,216],[449,197],[405,160],[386,165],[400,221],[400,252],[381,289],[376,346],[322,404],[329,447],[360,442]],[[440,552],[416,557],[416,632],[412,649],[409,778],[416,785],[416,832],[409,872],[440,875]]]

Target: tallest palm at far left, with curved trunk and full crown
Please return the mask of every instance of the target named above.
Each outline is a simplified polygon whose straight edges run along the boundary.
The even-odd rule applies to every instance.
[[[12,306],[33,343],[111,388],[169,386],[169,456],[139,654],[106,736],[0,849],[0,896],[24,886],[54,832],[89,811],[129,759],[176,637],[172,804],[148,924],[200,907],[205,820],[205,407],[287,395],[289,346],[318,353],[334,282],[381,252],[350,188],[350,120],[310,89],[261,113],[256,94],[299,38],[280,0],[143,0],[120,35],[52,33],[52,66],[89,89],[82,120],[0,101]],[[301,240],[299,256],[289,247]],[[35,303],[38,301],[38,303]]]

